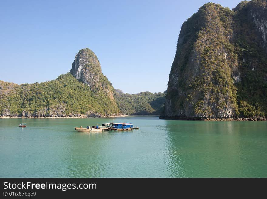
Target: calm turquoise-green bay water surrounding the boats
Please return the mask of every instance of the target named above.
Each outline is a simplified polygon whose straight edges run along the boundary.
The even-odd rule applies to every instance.
[[[74,130],[112,120],[140,130]],[[267,177],[266,129],[264,121],[151,116],[3,118],[0,177]]]

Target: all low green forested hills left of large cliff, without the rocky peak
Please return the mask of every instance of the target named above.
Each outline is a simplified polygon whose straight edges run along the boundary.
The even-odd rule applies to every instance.
[[[9,116],[159,115],[165,93],[130,95],[116,89],[114,99],[117,104],[105,92],[92,91],[70,73],[34,84],[0,81],[0,115]]]

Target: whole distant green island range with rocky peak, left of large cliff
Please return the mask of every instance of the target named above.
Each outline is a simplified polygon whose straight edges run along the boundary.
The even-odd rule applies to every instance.
[[[159,115],[165,93],[123,93],[103,75],[89,48],[75,56],[69,73],[43,83],[0,81],[2,117],[110,117]]]

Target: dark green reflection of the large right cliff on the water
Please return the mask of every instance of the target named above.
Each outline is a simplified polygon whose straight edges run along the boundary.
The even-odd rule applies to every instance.
[[[171,176],[266,176],[265,128],[259,122],[168,121]]]

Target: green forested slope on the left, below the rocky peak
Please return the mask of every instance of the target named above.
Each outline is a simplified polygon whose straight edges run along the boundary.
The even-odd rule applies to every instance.
[[[11,86],[7,86],[11,85]],[[0,114],[11,116],[79,116],[119,114],[104,92],[91,91],[70,73],[54,81],[15,85],[0,81]],[[7,109],[7,110],[5,110]]]

